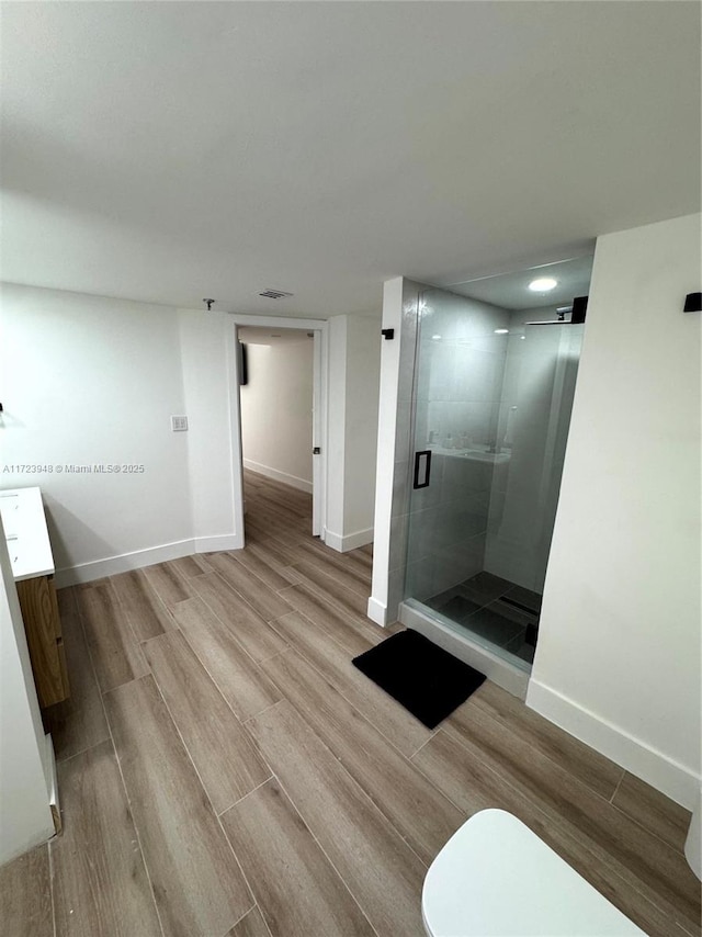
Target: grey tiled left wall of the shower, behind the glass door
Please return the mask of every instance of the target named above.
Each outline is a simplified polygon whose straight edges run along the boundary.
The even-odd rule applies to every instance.
[[[503,309],[409,281],[403,300],[388,608],[405,597],[406,576],[407,595],[421,600],[483,569],[494,465],[457,450],[497,442],[507,343],[495,329],[509,321]],[[431,484],[410,509],[422,449],[432,450]]]

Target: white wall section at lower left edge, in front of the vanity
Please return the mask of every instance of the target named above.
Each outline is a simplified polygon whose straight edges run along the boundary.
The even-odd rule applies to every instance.
[[[0,866],[54,835],[49,754],[0,520]]]

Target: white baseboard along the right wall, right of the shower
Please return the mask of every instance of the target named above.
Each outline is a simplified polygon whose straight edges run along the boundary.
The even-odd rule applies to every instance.
[[[526,705],[671,800],[688,810],[694,808],[700,778],[684,765],[533,678],[529,681]]]

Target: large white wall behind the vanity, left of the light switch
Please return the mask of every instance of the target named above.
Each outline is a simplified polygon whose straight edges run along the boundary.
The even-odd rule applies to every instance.
[[[162,306],[3,285],[2,486],[39,485],[59,571],[190,537],[178,325]],[[95,463],[144,472],[66,470]]]

